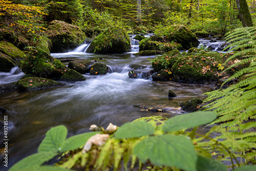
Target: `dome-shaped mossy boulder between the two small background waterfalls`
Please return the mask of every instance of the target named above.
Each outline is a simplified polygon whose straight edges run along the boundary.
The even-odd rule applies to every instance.
[[[92,41],[87,53],[125,53],[131,51],[129,35],[123,28],[110,27]]]

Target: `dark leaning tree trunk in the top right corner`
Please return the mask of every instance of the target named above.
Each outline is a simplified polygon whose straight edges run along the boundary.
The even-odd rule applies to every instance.
[[[236,0],[239,20],[242,22],[243,27],[252,27],[252,19],[246,0]]]

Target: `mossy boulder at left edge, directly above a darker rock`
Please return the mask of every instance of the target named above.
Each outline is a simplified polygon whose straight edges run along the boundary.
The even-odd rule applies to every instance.
[[[23,51],[16,48],[10,42],[4,40],[0,41],[0,52],[10,56],[14,60],[23,59],[26,57]]]

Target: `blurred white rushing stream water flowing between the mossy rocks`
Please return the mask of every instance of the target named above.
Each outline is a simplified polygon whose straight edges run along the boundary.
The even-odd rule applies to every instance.
[[[132,64],[150,67],[151,63],[147,59],[156,56],[90,54],[84,52],[87,47],[84,44],[78,47],[79,50],[77,48],[73,52],[55,53],[52,56],[58,59],[98,60],[110,67],[110,73],[97,76],[85,74],[86,81],[66,82],[67,86],[60,88],[0,93],[0,106],[12,113],[8,117],[9,126],[12,126],[8,132],[9,168],[36,153],[38,145],[52,126],[65,125],[69,130],[68,136],[72,136],[88,132],[91,124],[106,127],[111,122],[120,126],[145,116],[172,117],[183,113],[179,108],[180,102],[195,97],[203,99],[203,93],[214,89],[214,85],[130,79],[128,72]],[[23,75],[17,67],[9,73],[1,72],[0,84],[17,81]],[[168,90],[173,90],[177,97],[168,99]],[[167,112],[143,111],[138,105],[165,109]],[[3,166],[3,155],[4,148],[1,146],[0,170],[7,170]]]

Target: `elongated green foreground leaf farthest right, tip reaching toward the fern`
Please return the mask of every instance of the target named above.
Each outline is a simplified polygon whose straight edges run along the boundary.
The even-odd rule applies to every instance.
[[[173,132],[189,129],[206,123],[210,123],[217,118],[215,112],[192,112],[188,114],[178,115],[164,122],[162,129],[165,132]]]

